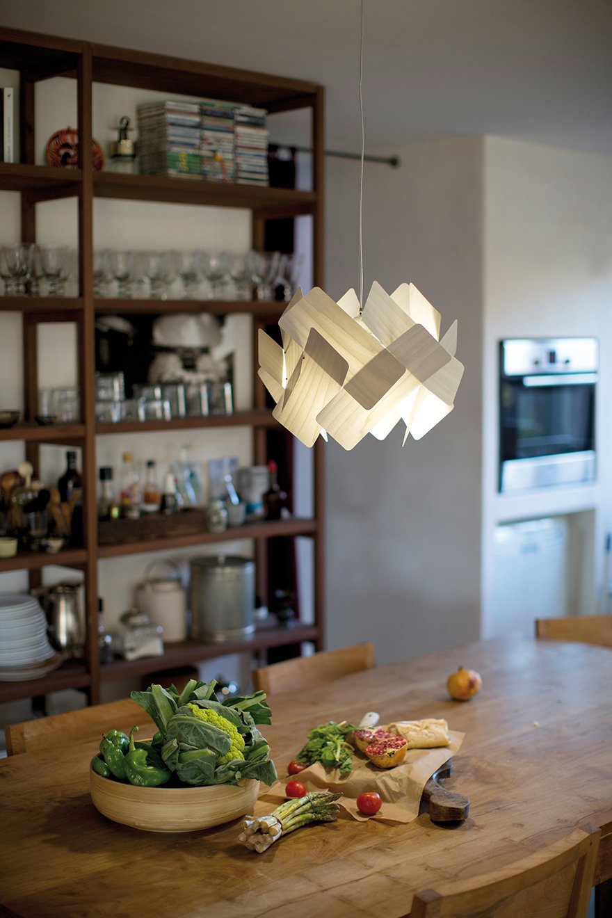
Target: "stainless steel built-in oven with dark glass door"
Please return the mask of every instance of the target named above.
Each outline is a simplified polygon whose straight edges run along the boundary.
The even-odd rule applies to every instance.
[[[501,342],[499,490],[595,478],[595,338]]]

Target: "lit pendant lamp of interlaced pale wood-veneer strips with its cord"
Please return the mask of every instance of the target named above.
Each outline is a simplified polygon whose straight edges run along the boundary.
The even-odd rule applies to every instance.
[[[374,281],[362,305],[363,0],[359,97],[362,162],[359,202],[360,297],[338,302],[300,289],[279,319],[282,345],[259,332],[259,376],[273,417],[311,447],[319,434],[351,450],[367,433],[384,440],[406,425],[416,440],[453,408],[463,375],[455,357],[457,322],[440,339],[440,313],[413,284],[388,294]]]

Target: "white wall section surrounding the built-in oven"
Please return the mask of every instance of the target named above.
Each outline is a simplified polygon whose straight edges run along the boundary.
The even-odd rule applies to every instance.
[[[592,613],[612,527],[612,157],[500,138],[484,151],[484,606],[495,523],[569,514],[572,611]],[[500,495],[498,341],[549,335],[599,339],[597,481]]]

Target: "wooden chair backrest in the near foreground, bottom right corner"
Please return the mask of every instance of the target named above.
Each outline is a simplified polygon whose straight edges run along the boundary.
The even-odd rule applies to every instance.
[[[574,829],[508,868],[417,893],[410,918],[585,918],[600,836]]]

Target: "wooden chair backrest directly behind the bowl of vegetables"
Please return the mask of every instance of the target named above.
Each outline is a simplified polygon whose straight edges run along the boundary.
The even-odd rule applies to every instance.
[[[16,756],[57,746],[69,748],[72,744],[99,740],[102,733],[113,728],[128,733],[135,725],[143,735],[146,731],[146,735],[152,736],[157,729],[149,714],[130,698],[39,717],[34,721],[10,723],[5,727],[6,754]]]

